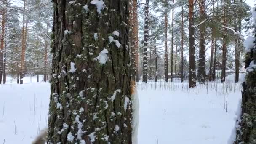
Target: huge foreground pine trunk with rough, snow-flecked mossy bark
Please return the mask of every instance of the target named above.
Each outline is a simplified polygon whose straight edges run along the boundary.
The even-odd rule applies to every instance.
[[[128,1],[53,3],[48,143],[132,144]]]

